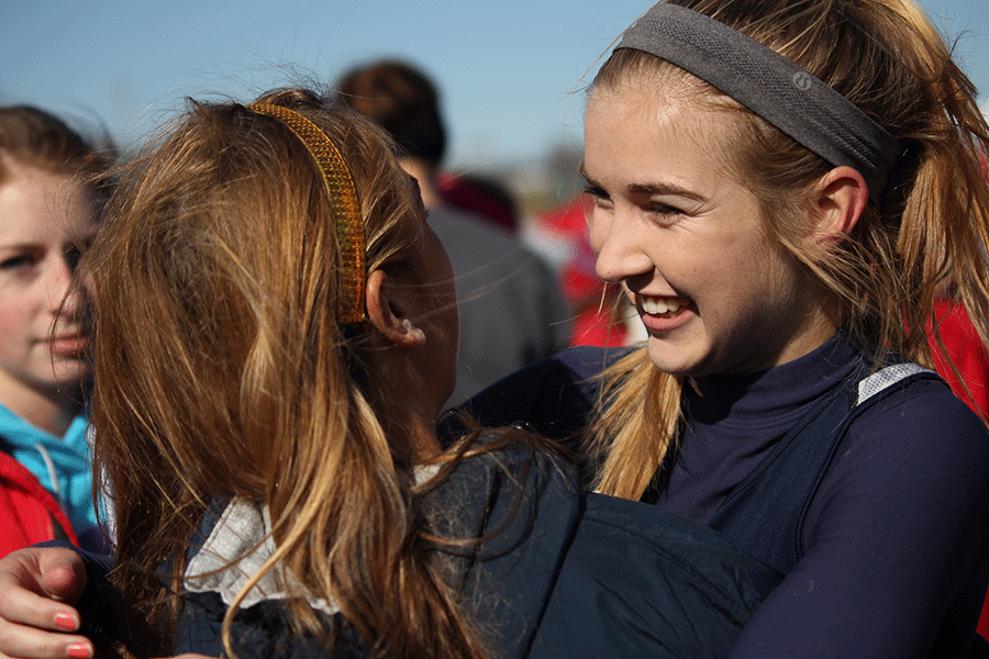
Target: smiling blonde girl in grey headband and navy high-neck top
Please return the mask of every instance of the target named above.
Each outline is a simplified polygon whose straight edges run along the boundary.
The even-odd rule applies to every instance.
[[[918,364],[941,290],[989,338],[986,147],[911,0],[659,3],[597,75],[590,241],[648,333],[597,483],[787,574],[731,657],[968,651],[989,436]]]

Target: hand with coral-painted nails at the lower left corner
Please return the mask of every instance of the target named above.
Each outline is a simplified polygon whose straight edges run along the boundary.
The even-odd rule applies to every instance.
[[[20,549],[0,559],[0,659],[88,659],[75,604],[86,587],[82,558],[71,549]]]

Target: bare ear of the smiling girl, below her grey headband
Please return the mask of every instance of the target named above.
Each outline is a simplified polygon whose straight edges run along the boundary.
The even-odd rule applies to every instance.
[[[852,232],[868,201],[869,190],[862,174],[851,167],[835,167],[815,187],[815,222],[808,237],[827,252]]]

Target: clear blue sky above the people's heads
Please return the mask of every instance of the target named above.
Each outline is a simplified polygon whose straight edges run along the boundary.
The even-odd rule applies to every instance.
[[[399,56],[440,85],[454,166],[579,143],[574,93],[648,0],[3,0],[0,103],[146,136],[186,96],[249,99]],[[923,0],[989,98],[989,1]]]

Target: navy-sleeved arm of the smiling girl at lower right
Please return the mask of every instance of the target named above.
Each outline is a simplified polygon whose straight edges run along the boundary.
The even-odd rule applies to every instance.
[[[943,387],[910,387],[853,424],[811,504],[803,558],[730,657],[964,657],[987,520],[985,427]]]

